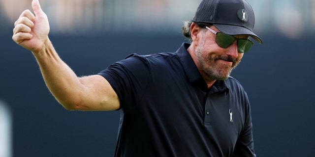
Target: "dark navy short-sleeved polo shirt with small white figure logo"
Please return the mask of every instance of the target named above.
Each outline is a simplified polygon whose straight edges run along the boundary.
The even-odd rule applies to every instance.
[[[116,157],[254,157],[250,103],[234,78],[207,89],[187,48],[131,54],[99,75],[121,102]]]

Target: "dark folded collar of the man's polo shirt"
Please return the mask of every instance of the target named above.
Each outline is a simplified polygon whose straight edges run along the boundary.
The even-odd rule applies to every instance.
[[[203,80],[201,74],[199,73],[195,63],[193,62],[189,52],[187,49],[189,48],[190,44],[183,43],[182,46],[177,50],[177,55],[183,65],[183,68],[186,72],[186,76],[189,79],[189,82],[194,82],[197,80]],[[228,78],[229,79],[229,78]],[[229,88],[229,81],[228,79],[223,81],[216,81],[213,86],[212,90],[216,91],[224,91],[225,89]],[[228,90],[226,90],[228,92]]]

